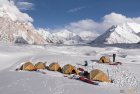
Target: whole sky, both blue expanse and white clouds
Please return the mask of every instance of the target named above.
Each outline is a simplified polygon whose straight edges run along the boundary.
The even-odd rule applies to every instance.
[[[0,0],[12,18],[49,32],[103,33],[112,25],[140,24],[140,0]]]

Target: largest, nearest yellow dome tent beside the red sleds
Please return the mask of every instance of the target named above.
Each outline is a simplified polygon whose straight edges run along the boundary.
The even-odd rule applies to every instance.
[[[94,81],[111,82],[108,76],[101,70],[95,69],[89,73],[88,78]]]

